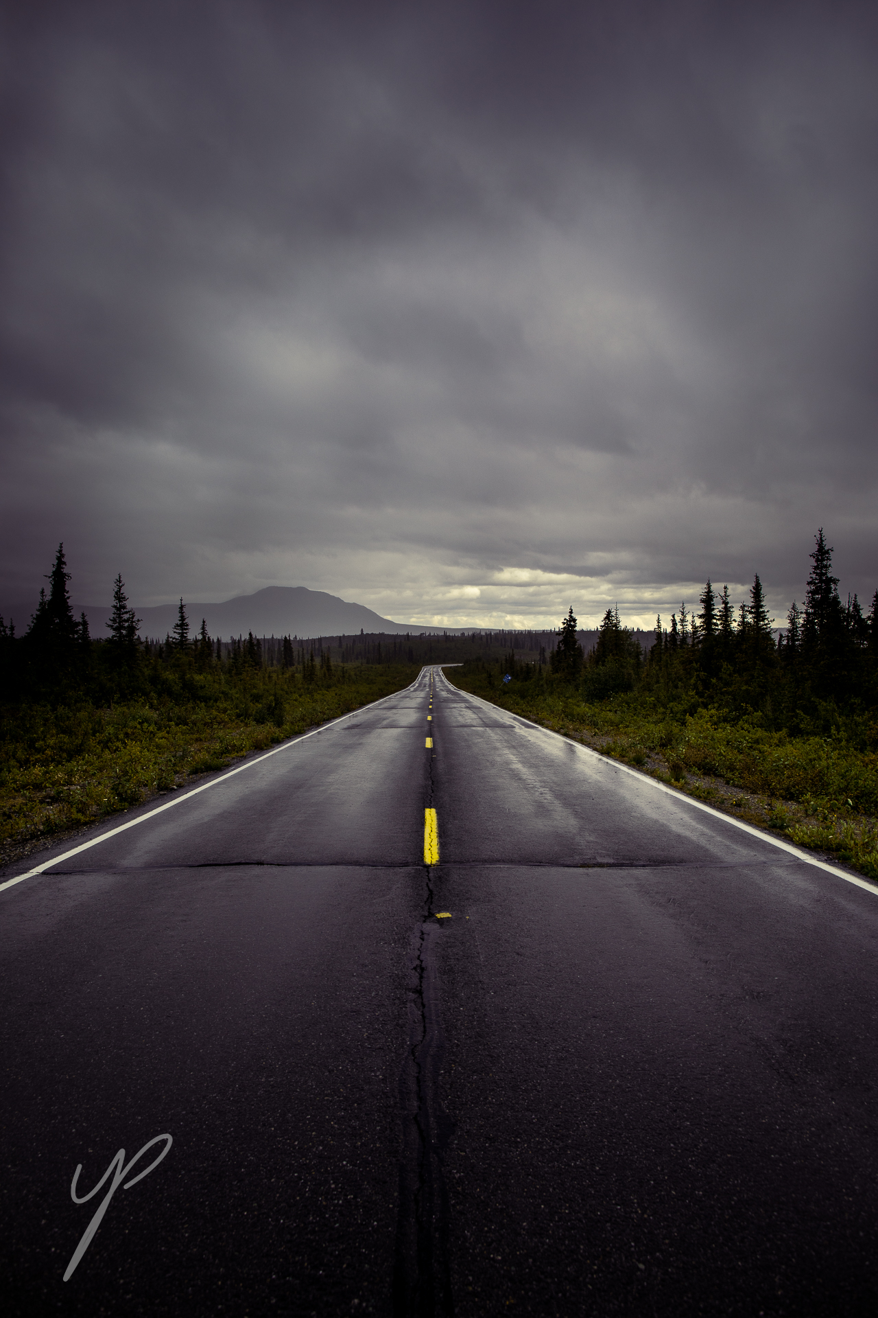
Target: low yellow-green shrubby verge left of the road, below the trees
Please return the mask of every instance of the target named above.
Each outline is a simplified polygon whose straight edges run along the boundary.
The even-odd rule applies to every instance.
[[[257,672],[219,689],[216,679],[201,691],[191,681],[186,699],[151,693],[109,708],[7,706],[0,862],[400,691],[417,672],[409,664],[366,666],[336,670],[323,684]]]

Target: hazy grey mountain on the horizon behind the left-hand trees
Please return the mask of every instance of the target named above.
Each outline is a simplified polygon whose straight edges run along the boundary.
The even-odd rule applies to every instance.
[[[308,590],[304,585],[267,585],[254,594],[237,594],[222,604],[190,604],[184,600],[191,634],[207,622],[212,637],[329,637],[359,635],[363,631],[384,631],[399,635],[405,631],[419,634],[423,625],[391,622],[362,604],[349,604],[325,590]],[[136,609],[141,618],[142,637],[165,638],[176,622],[176,604],[158,604]],[[79,610],[76,610],[79,612]],[[107,635],[108,606],[87,606],[88,627],[92,637]]]

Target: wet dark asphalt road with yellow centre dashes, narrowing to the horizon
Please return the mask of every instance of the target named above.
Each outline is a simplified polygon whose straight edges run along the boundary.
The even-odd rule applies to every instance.
[[[878,1311],[874,891],[438,670],[163,804],[0,892],[5,1314]]]

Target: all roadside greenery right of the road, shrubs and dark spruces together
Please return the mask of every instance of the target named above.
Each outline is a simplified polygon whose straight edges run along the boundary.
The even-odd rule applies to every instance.
[[[735,616],[708,581],[644,652],[608,610],[583,655],[573,610],[550,663],[469,659],[465,691],[878,879],[878,593],[842,604],[823,531],[804,608],[773,639],[758,576]]]

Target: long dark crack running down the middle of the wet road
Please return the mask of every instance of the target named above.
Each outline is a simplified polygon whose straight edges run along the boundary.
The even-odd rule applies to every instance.
[[[433,760],[428,759],[425,809],[433,805]],[[394,1269],[394,1318],[453,1318],[449,1202],[442,1157],[454,1123],[440,1097],[445,1046],[438,983],[432,867],[424,865],[424,915],[413,966],[412,1029],[400,1073],[403,1156]]]

